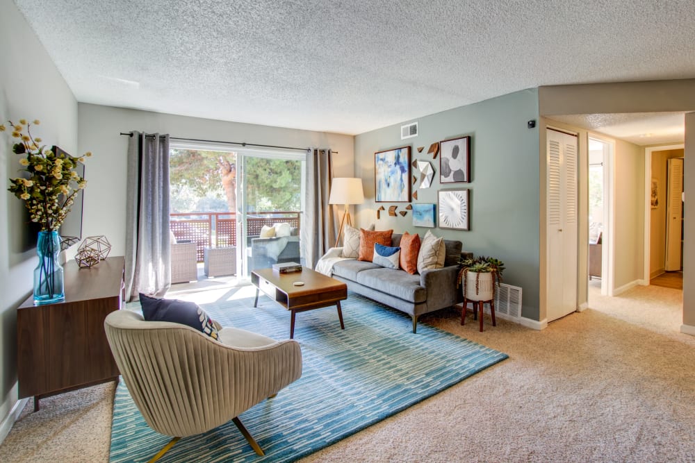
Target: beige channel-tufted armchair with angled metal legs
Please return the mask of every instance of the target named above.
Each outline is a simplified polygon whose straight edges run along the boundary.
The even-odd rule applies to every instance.
[[[104,328],[145,421],[157,432],[174,436],[151,461],[181,437],[229,420],[263,455],[238,415],[302,376],[302,352],[292,340],[276,341],[219,325],[219,340],[215,340],[183,324],[144,321],[130,310],[108,314]]]

